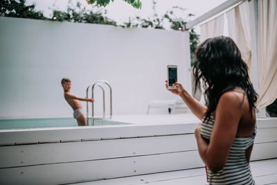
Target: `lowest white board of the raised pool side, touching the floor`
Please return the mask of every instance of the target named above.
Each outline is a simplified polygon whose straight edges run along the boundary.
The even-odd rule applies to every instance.
[[[1,168],[0,184],[66,184],[203,167],[197,151]]]

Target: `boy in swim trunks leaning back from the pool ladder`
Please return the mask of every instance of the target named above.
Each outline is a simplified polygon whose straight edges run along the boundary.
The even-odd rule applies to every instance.
[[[64,98],[69,103],[69,105],[73,109],[73,117],[77,120],[79,126],[86,125],[86,119],[84,118],[84,114],[82,113],[82,104],[81,101],[89,101],[91,103],[94,102],[93,98],[79,98],[74,94],[71,94],[71,80],[69,78],[62,78],[62,87],[64,88]]]

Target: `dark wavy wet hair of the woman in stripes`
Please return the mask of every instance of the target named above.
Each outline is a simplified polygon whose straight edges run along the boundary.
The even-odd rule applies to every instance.
[[[209,119],[215,111],[220,96],[236,87],[244,89],[249,100],[249,110],[256,107],[258,94],[250,82],[247,64],[242,60],[238,46],[230,37],[214,37],[206,39],[195,51],[193,76],[195,91],[204,82],[208,109],[205,119]]]

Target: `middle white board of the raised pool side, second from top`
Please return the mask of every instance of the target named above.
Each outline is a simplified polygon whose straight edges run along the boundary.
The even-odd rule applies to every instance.
[[[193,134],[2,146],[0,168],[197,150]]]

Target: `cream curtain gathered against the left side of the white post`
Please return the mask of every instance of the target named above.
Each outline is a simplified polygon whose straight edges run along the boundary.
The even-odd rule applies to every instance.
[[[237,44],[242,59],[251,69],[251,39],[250,39],[250,24],[249,24],[249,2],[244,1],[239,6],[235,6],[226,12],[228,21],[229,37]]]

